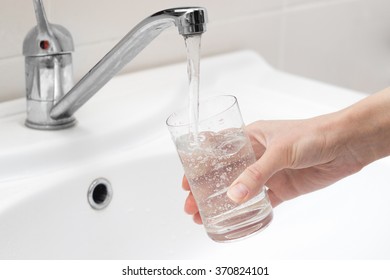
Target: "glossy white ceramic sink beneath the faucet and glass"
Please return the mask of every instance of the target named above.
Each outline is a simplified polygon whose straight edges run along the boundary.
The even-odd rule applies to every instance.
[[[201,96],[236,95],[246,123],[311,117],[365,96],[277,71],[252,51],[201,68]],[[390,258],[389,159],[278,206],[260,234],[211,241],[183,211],[165,127],[187,95],[183,63],[114,78],[68,130],[28,129],[24,100],[0,104],[0,259]],[[102,210],[87,198],[97,178],[113,191]]]

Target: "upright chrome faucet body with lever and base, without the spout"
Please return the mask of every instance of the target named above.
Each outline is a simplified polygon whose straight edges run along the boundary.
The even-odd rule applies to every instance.
[[[50,117],[54,105],[73,87],[73,39],[69,31],[50,24],[41,0],[34,0],[37,26],[23,42],[25,56],[26,126],[60,129],[75,124],[73,117],[59,121]]]

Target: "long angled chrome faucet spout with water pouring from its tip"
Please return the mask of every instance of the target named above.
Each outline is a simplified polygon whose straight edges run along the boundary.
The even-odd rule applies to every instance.
[[[54,105],[50,117],[70,118],[166,28],[176,25],[181,35],[191,36],[205,32],[206,22],[207,12],[199,7],[163,10],[144,19]]]

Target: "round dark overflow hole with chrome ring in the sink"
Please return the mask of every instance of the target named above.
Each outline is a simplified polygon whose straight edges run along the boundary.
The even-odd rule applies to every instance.
[[[107,179],[99,178],[92,182],[88,189],[88,202],[93,209],[101,210],[110,203],[112,187]]]

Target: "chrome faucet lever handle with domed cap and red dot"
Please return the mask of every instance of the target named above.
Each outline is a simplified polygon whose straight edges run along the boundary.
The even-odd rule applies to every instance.
[[[44,56],[70,53],[74,50],[70,32],[47,20],[42,0],[33,0],[37,26],[30,30],[23,42],[24,56]]]

